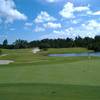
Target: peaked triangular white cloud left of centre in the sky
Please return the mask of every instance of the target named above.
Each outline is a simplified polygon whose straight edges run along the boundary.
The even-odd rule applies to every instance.
[[[43,23],[48,21],[55,21],[56,18],[50,16],[47,12],[41,11],[41,13],[34,20],[35,23]]]

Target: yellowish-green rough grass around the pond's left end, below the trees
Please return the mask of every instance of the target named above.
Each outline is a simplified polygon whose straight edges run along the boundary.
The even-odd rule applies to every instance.
[[[78,60],[85,60],[88,57],[48,57],[47,54],[53,53],[80,53],[90,52],[85,48],[61,48],[61,49],[48,49],[48,51],[41,51],[38,54],[33,54],[32,49],[15,49],[15,50],[2,50],[3,54],[8,54],[5,57],[0,57],[2,60],[13,60],[14,63],[59,63],[59,62],[74,62]],[[93,57],[92,57],[93,58]],[[96,57],[95,57],[96,58]]]

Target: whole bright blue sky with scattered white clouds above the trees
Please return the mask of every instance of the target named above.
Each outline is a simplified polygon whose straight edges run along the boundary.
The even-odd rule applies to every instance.
[[[0,0],[0,43],[95,35],[100,0]]]

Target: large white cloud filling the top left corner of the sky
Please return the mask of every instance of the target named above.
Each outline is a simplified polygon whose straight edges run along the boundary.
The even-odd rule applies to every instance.
[[[26,20],[27,17],[16,9],[13,0],[0,0],[0,16],[5,18],[6,22],[14,20]]]

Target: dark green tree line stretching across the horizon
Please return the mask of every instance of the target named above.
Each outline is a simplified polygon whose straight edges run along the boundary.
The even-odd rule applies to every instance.
[[[40,49],[46,50],[47,48],[69,48],[69,47],[83,47],[89,50],[100,51],[100,36],[94,38],[80,36],[75,39],[43,39],[28,42],[26,40],[18,39],[12,44],[8,44],[7,39],[0,44],[0,48],[5,49],[22,49],[22,48],[33,48],[39,47]]]

